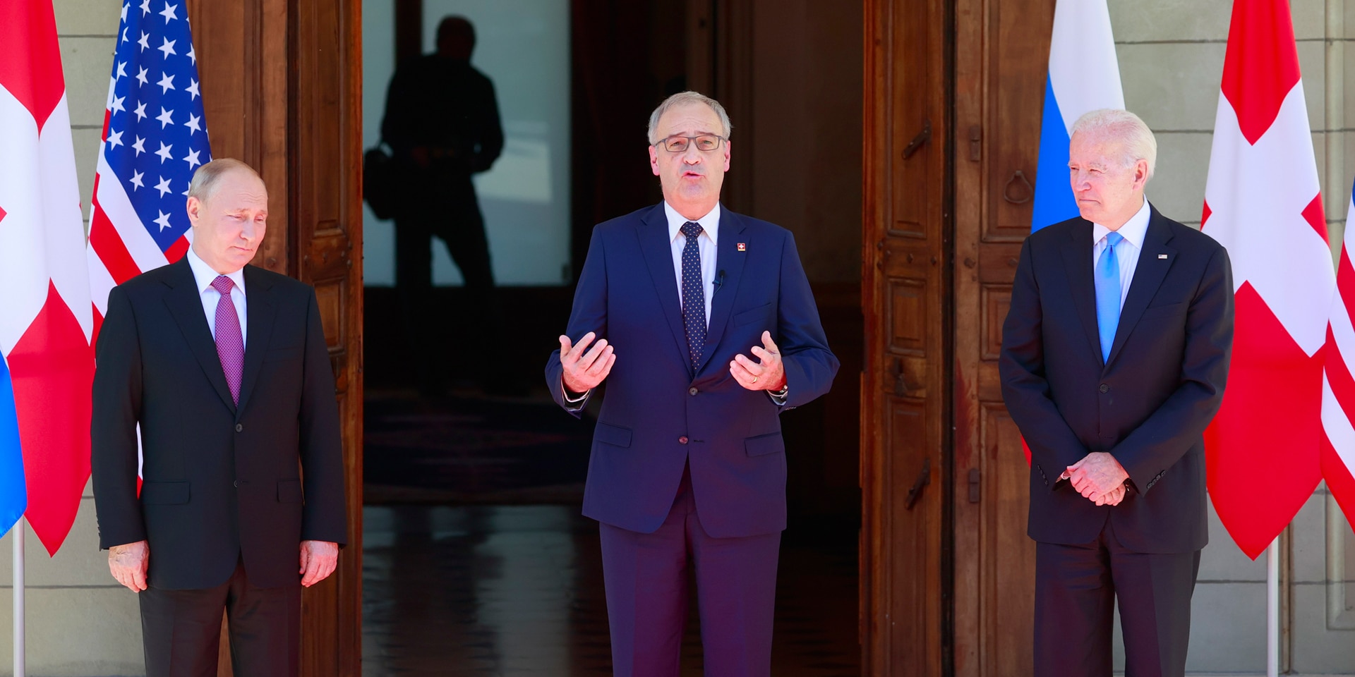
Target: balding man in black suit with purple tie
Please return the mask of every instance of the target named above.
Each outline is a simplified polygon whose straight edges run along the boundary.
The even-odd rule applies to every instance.
[[[108,569],[140,593],[149,677],[299,669],[301,586],[347,539],[335,382],[314,290],[247,263],[268,194],[215,160],[188,187],[192,246],[114,287],[93,379]],[[138,492],[138,425],[142,454]]]

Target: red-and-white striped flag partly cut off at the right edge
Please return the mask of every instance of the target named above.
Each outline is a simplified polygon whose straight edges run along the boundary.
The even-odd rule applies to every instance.
[[[1355,188],[1346,211],[1346,237],[1336,268],[1336,294],[1327,328],[1327,360],[1322,370],[1322,479],[1346,519],[1355,523],[1355,267],[1348,242],[1355,227]]]

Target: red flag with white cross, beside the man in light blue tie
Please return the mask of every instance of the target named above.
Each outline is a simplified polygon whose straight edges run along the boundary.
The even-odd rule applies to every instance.
[[[1236,0],[1202,230],[1228,248],[1233,362],[1205,433],[1209,493],[1253,559],[1321,479],[1322,359],[1336,290],[1287,0]]]

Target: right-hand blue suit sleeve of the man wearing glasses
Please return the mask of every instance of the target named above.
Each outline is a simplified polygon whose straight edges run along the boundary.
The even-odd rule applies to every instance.
[[[799,263],[795,237],[787,234],[780,256],[780,290],[776,303],[776,334],[789,393],[782,410],[805,405],[828,393],[837,375],[837,356],[818,320],[809,278]]]

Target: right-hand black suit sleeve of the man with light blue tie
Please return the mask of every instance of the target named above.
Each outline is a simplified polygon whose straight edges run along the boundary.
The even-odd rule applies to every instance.
[[[1186,315],[1182,380],[1134,432],[1111,450],[1138,493],[1199,443],[1224,402],[1233,352],[1233,268],[1228,250],[1214,250]]]

